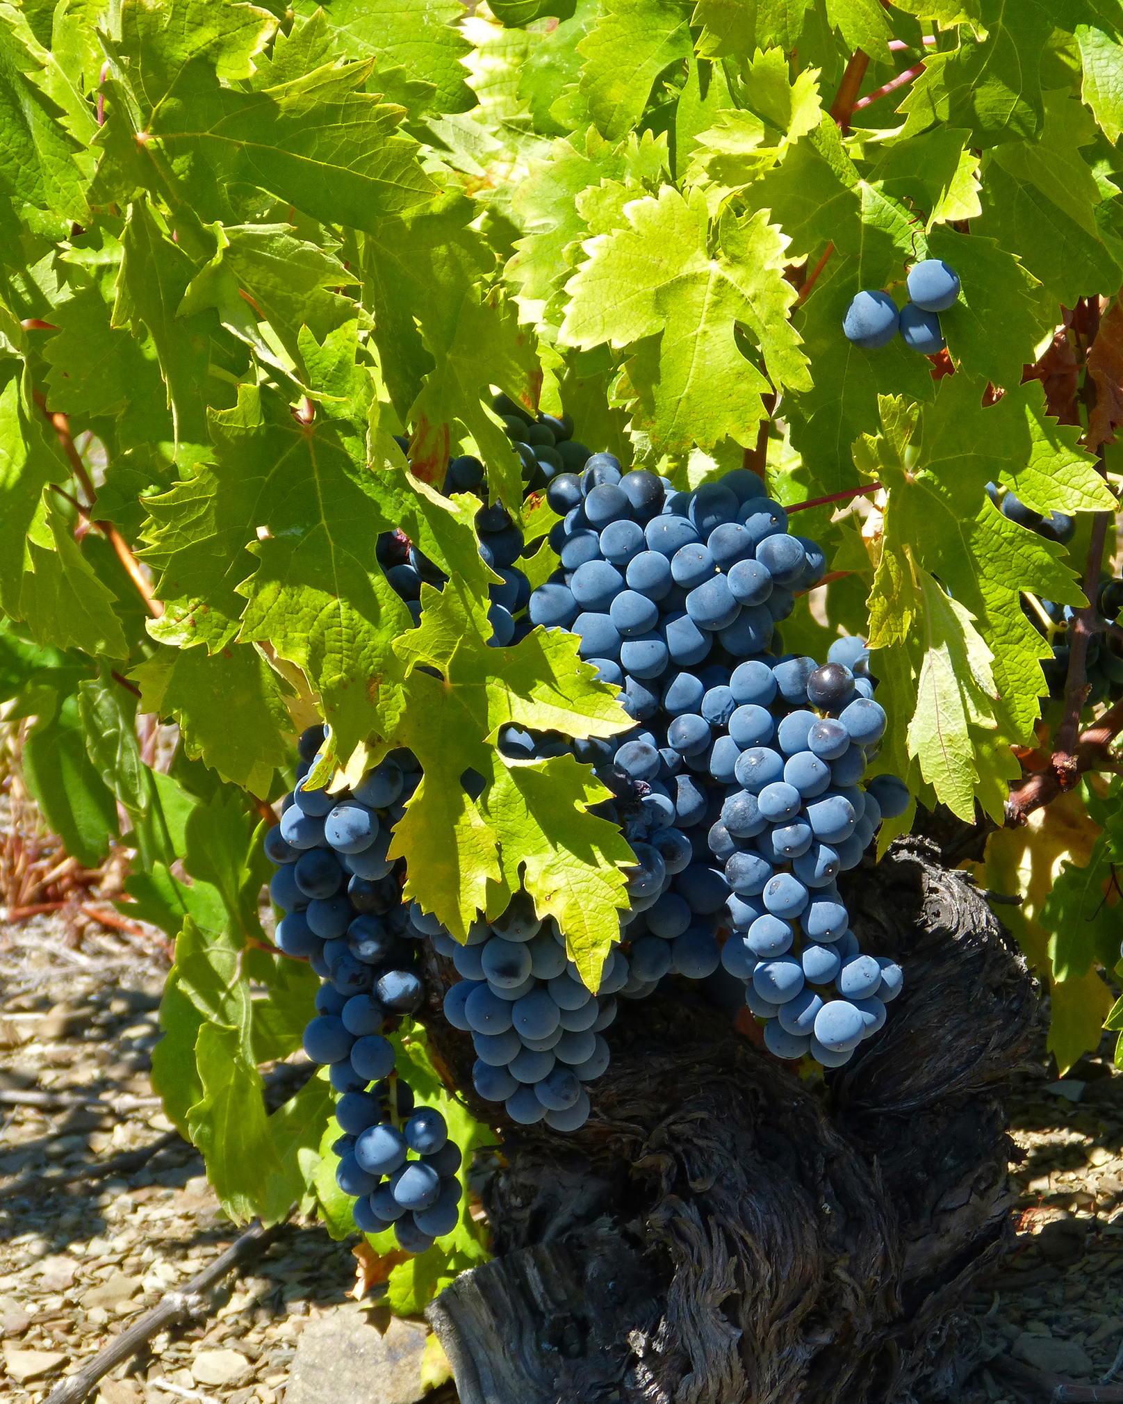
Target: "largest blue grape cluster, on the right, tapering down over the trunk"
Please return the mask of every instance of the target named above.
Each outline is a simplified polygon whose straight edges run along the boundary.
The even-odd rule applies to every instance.
[[[626,951],[612,953],[620,993],[643,998],[720,963],[748,987],[773,1053],[841,1066],[882,1028],[901,973],[860,955],[835,878],[910,796],[889,775],[858,783],[886,726],[863,640],[837,640],[821,667],[780,651],[776,623],[821,578],[821,550],[789,535],[745,470],[679,493],[597,453],[546,494],[566,511],[552,534],[560,569],[529,618],[578,636],[636,727],[577,743],[508,727],[500,747],[571,750],[613,795],[599,813],[637,859]]]

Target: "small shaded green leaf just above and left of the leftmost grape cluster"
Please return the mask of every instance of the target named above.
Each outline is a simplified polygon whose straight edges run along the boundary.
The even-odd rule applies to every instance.
[[[225,781],[268,795],[274,771],[288,761],[285,696],[292,689],[255,649],[160,649],[131,677],[140,685],[143,710],[175,717],[188,755]]]

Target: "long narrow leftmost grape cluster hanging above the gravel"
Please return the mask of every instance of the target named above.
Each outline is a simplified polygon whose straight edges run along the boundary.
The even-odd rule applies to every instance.
[[[277,865],[270,896],[285,913],[277,946],[307,960],[323,981],[303,1045],[313,1063],[330,1066],[338,1094],[335,1178],[358,1196],[355,1223],[364,1233],[393,1223],[399,1244],[421,1252],[452,1231],[460,1198],[460,1151],[439,1112],[410,1115],[413,1092],[394,1073],[385,1036],[425,993],[416,970],[424,932],[411,921],[420,910],[401,900],[404,863],[386,856],[421,774],[411,753],[394,751],[352,790],[328,795],[306,783],[323,744],[323,726],[300,736],[296,786],[265,835]],[[410,1151],[420,1160],[410,1161]]]

